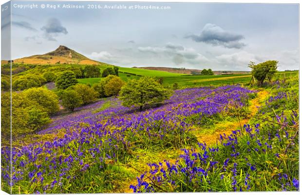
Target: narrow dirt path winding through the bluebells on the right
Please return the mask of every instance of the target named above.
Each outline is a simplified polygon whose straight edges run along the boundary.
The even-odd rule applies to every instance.
[[[251,111],[250,116],[255,116],[257,114],[258,107],[261,106],[261,102],[264,101],[268,93],[269,93],[268,91],[261,90],[257,93],[258,94],[257,98],[251,100],[249,106],[249,110]],[[250,117],[242,119],[240,120],[240,124],[243,126],[244,124],[247,124],[249,120]],[[240,124],[238,121],[217,124],[215,126],[214,133],[199,134],[196,136],[198,137],[199,142],[206,142],[207,145],[216,144],[216,141],[219,141],[220,134],[225,133],[227,136],[229,136],[232,133],[232,131],[236,129],[240,129]]]

